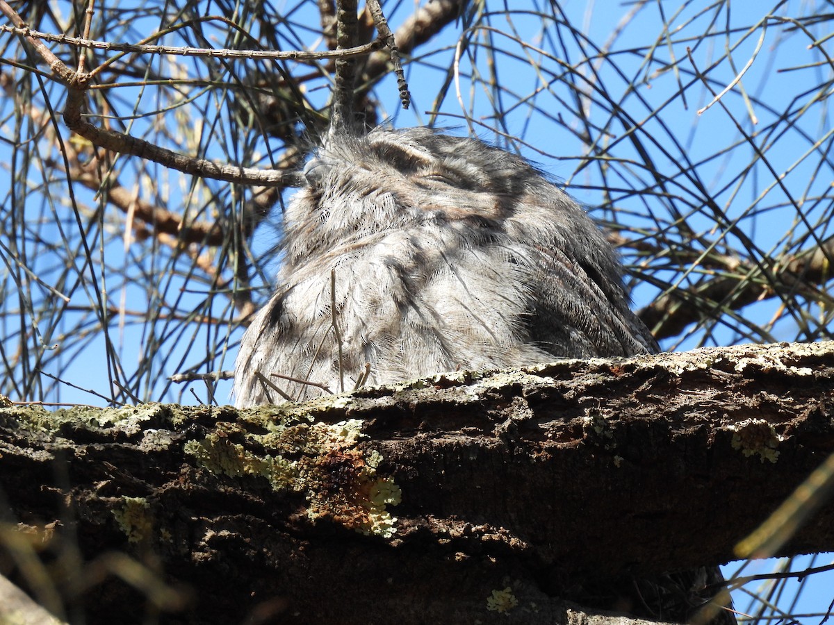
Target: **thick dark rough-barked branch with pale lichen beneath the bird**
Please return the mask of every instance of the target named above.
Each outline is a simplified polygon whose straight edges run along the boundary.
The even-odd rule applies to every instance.
[[[732,559],[834,451],[832,396],[816,343],[239,412],[2,408],[0,573],[90,623],[591,622],[560,597]],[[832,517],[781,553],[834,550]]]

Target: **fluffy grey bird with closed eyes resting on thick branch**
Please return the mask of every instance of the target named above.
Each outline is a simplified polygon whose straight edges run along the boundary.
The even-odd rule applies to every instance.
[[[278,287],[241,339],[238,408],[660,351],[599,226],[520,156],[432,128],[379,127],[330,133],[303,178],[284,209]],[[680,607],[683,621],[722,579],[701,567],[605,593],[649,617]],[[735,618],[721,610],[713,622]]]

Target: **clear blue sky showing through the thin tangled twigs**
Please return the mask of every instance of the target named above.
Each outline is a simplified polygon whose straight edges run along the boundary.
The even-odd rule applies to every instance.
[[[282,4],[289,11],[295,3],[277,2],[278,6]],[[688,226],[701,233],[704,240],[719,247],[727,242],[728,248],[738,248],[736,234],[714,227],[714,215],[703,202],[706,193],[727,219],[737,220],[734,225],[740,233],[751,238],[761,256],[799,248],[809,229],[814,229],[821,238],[830,236],[827,223],[831,216],[831,200],[827,199],[827,193],[834,180],[834,168],[828,158],[822,158],[820,154],[827,150],[827,136],[834,128],[826,106],[831,89],[826,87],[826,81],[831,79],[831,67],[818,64],[825,57],[808,48],[811,38],[801,29],[793,28],[795,23],[783,19],[800,13],[821,13],[827,6],[825,2],[774,0],[767,5],[761,2],[648,2],[621,31],[623,17],[636,7],[633,3],[561,2],[565,16],[570,23],[579,26],[580,32],[553,28],[552,23],[542,18],[542,13],[549,10],[546,2],[530,0],[511,4],[515,13],[510,19],[501,14],[502,3],[490,3],[487,7],[494,6],[496,12],[485,20],[490,28],[470,32],[470,37],[462,37],[460,28],[447,28],[435,41],[420,47],[415,53],[417,61],[407,66],[414,101],[408,112],[399,109],[393,77],[386,78],[374,93],[389,121],[399,128],[421,125],[430,122],[431,112],[435,110],[437,125],[450,128],[454,133],[466,133],[471,127],[475,134],[490,143],[519,150],[526,158],[538,163],[545,173],[565,181],[568,191],[589,206],[595,217],[602,220],[616,218],[632,228],[651,230],[657,223],[674,221],[676,211],[683,212],[687,215]],[[104,2],[103,7],[107,6]],[[402,23],[413,6],[410,2],[386,3],[392,27]],[[679,7],[682,8],[677,13]],[[762,22],[763,16],[771,10],[776,17]],[[207,13],[211,13],[210,8]],[[299,37],[304,37],[301,29],[304,24],[317,24],[314,3],[299,6],[289,13]],[[664,19],[671,27],[668,37],[664,37]],[[699,33],[704,32],[709,23],[718,34],[699,38]],[[749,28],[753,24],[758,26]],[[225,45],[222,26],[219,24],[216,28],[218,47]],[[127,35],[133,37],[130,42],[153,32],[158,28],[158,21],[137,19],[133,27],[133,32]],[[819,29],[821,35],[827,32],[828,26],[821,23],[809,28],[811,32]],[[616,54],[605,61],[578,62],[589,50],[605,46],[615,32],[619,33],[612,44],[612,49],[618,51]],[[257,33],[253,34],[257,36]],[[468,41],[469,47],[460,54],[457,80],[453,76],[445,99],[435,102],[439,85],[449,77],[450,67],[455,65],[456,46],[462,41]],[[171,37],[169,42],[183,45],[176,37]],[[495,58],[490,57],[483,45],[486,42],[503,52]],[[652,48],[651,61],[647,61],[647,43],[651,42],[656,42],[656,47]],[[296,44],[294,35],[288,31],[287,46]],[[727,51],[731,51],[731,58],[725,56]],[[672,60],[678,64],[671,64]],[[168,71],[161,60],[153,63],[161,73]],[[195,60],[191,66],[195,72],[199,63]],[[566,67],[574,69],[569,72]],[[699,114],[713,97],[703,86],[699,73],[706,73],[713,91],[719,92],[731,84],[744,67],[747,69],[741,82],[721,98],[721,103]],[[500,89],[490,87],[479,77],[488,75],[493,68],[499,77]],[[575,89],[565,86],[571,81],[575,82]],[[319,81],[309,83],[308,87],[316,85],[318,90],[311,88],[308,94],[312,102],[320,103],[327,97],[327,85]],[[816,85],[822,87],[810,89]],[[601,97],[600,87],[610,94],[610,102]],[[749,108],[742,87],[756,100]],[[577,91],[584,92],[586,97],[577,100],[573,97]],[[686,97],[681,97],[681,91]],[[53,93],[58,102],[60,89]],[[211,92],[203,97],[211,97]],[[113,90],[112,102],[114,112],[122,117],[153,109],[156,105],[153,90],[138,87]],[[496,102],[507,109],[500,119],[493,116]],[[805,115],[786,114],[786,111],[796,112],[803,108],[808,111]],[[178,110],[188,109],[180,107]],[[580,110],[584,114],[580,115]],[[617,113],[613,115],[612,110]],[[757,123],[753,123],[754,115]],[[634,128],[626,128],[624,119],[631,120]],[[206,155],[222,160],[225,153],[234,153],[239,148],[235,146],[234,133],[221,133],[218,129],[223,120],[209,128],[209,120],[198,116],[194,119],[195,126],[203,122],[207,128],[203,133],[203,144],[208,145],[204,149]],[[9,123],[7,120],[6,128]],[[616,159],[616,163],[587,160],[587,143],[581,138],[584,124],[607,130],[598,135],[600,145],[605,148],[606,155]],[[145,136],[148,128],[148,119],[138,117],[131,132]],[[752,149],[744,135],[753,133],[757,135],[753,143],[765,156],[750,167]],[[63,137],[68,138],[66,129],[63,129]],[[632,143],[632,138],[640,138],[641,143]],[[217,143],[213,145],[220,141],[224,143],[224,150],[217,148]],[[193,148],[177,146],[175,142],[168,147],[183,152]],[[654,182],[638,148],[648,149],[656,170],[667,177],[674,198],[640,193],[654,188]],[[269,163],[268,152],[269,143],[264,142],[259,147],[264,165]],[[9,154],[8,144],[0,144],[3,163],[11,163]],[[692,163],[690,168],[681,167],[681,163],[686,162]],[[126,176],[130,175],[132,167],[129,159],[118,163]],[[193,193],[190,178],[159,167],[150,172],[159,188],[164,189],[171,206],[181,203],[192,208],[203,207],[204,198]],[[686,173],[692,176],[687,177]],[[62,228],[75,228],[75,223],[66,213],[61,213],[66,206],[42,202],[38,198],[38,182],[33,180],[32,185],[26,212],[29,218],[39,215],[46,224],[38,232],[47,241],[58,243],[65,236],[69,239],[62,234]],[[151,187],[147,183],[143,185],[145,189]],[[219,188],[219,193],[229,193],[222,186],[212,188]],[[91,193],[82,189],[77,189],[77,193],[89,207],[96,206],[97,201]],[[12,201],[5,177],[0,179],[0,198],[7,205]],[[154,201],[153,196],[148,199]],[[160,196],[160,199],[164,198]],[[58,215],[63,217],[56,218]],[[271,226],[264,226],[256,233],[253,249],[257,255],[272,248],[279,226],[276,213]],[[67,243],[63,247],[73,245],[76,244]],[[138,245],[143,244],[133,243],[133,246]],[[170,271],[175,266],[187,273],[188,262],[168,265],[163,257],[138,253],[137,248],[128,248],[125,252],[118,236],[107,239],[106,243],[105,238],[93,240],[90,246],[103,250],[105,270],[101,280],[113,305],[124,303],[126,309],[142,313],[154,306],[170,305],[173,309],[175,303],[178,311],[188,312],[205,297],[206,291],[201,292],[198,285],[195,290],[183,293],[183,288],[194,288],[194,283],[188,283]],[[58,243],[58,248],[61,247]],[[8,261],[8,255],[3,257]],[[50,257],[48,246],[42,243],[33,243],[28,258],[32,259],[38,273],[49,276],[60,273],[55,269],[61,266],[60,259]],[[76,272],[83,275],[87,271],[83,267],[83,251],[77,249],[75,258]],[[634,258],[626,260],[636,262]],[[264,263],[266,283],[261,285],[259,292],[262,301],[268,296],[268,283],[278,262],[279,259],[273,257],[271,262]],[[113,268],[112,273],[108,272],[108,267]],[[149,273],[166,277],[160,278],[158,293],[148,299],[147,289],[121,282],[118,275],[124,268],[129,268],[134,276]],[[72,277],[68,281],[72,282]],[[52,284],[57,285],[58,282]],[[645,283],[634,287],[636,308],[645,306],[658,294],[655,287]],[[34,288],[37,291],[40,287]],[[83,281],[73,290],[74,304],[84,305],[94,298],[92,288]],[[777,309],[778,303],[766,301],[746,307],[743,315],[752,324],[761,325],[773,317]],[[816,324],[824,330],[829,323],[829,314],[825,310],[818,311]],[[0,333],[7,344],[19,340],[16,328],[10,325],[11,320],[4,318],[3,323]],[[50,328],[37,319],[31,323],[40,328],[47,348],[61,340],[62,327]],[[67,328],[71,327],[67,325]],[[122,326],[118,323],[111,326],[111,340],[118,349],[122,367],[130,372],[143,369],[143,386],[149,389],[148,398],[181,403],[204,401],[207,393],[200,383],[191,387],[196,393],[195,398],[186,388],[161,381],[171,373],[201,362],[204,354],[219,343],[228,344],[229,351],[216,359],[214,366],[232,368],[239,328],[188,327],[185,335],[179,338],[175,323],[159,328],[163,328],[157,337],[160,347],[154,351],[153,362],[145,363],[143,346],[151,340],[148,327],[129,315]],[[73,328],[71,332],[77,330]],[[795,340],[801,338],[801,334],[796,323],[785,317],[774,325],[767,338]],[[717,329],[709,337],[693,331],[681,340],[664,342],[663,347],[682,350],[701,343],[730,344],[746,340],[735,328],[728,326]],[[103,383],[108,377],[104,353],[103,339],[100,336],[92,338],[82,351],[68,353],[48,371],[82,388],[95,388],[108,394],[107,384]],[[165,388],[167,390],[163,390]],[[221,403],[229,398],[229,391],[229,383],[219,385],[217,397]],[[60,386],[59,393],[53,393],[51,398],[68,403],[102,404],[99,398],[69,386]],[[806,582],[802,601],[808,602],[808,612],[824,609],[821,602],[827,605],[831,600],[831,586],[834,586],[834,580],[830,575],[813,576]],[[805,603],[801,604],[801,609],[805,609]],[[807,622],[818,622],[818,619],[809,618]]]

